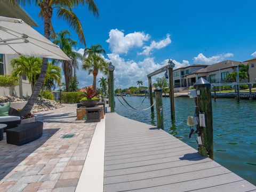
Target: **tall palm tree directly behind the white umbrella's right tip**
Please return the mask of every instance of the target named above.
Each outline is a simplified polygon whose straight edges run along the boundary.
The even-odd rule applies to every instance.
[[[71,78],[73,77],[73,69],[74,69],[74,76],[76,76],[76,69],[78,68],[78,59],[82,60],[83,55],[74,51],[73,47],[76,46],[77,42],[71,39],[70,32],[68,30],[62,30],[60,33],[55,34],[55,39],[53,43],[59,45],[60,49],[65,52],[71,61],[65,60],[54,60],[54,63],[60,63],[62,66],[62,70],[65,76],[65,83],[67,90],[69,91],[69,85]],[[53,37],[53,36],[52,36]]]

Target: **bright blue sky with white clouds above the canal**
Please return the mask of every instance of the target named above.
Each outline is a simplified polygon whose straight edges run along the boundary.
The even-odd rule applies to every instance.
[[[74,12],[81,19],[87,46],[100,43],[107,51],[105,58],[116,66],[119,87],[135,86],[138,80],[147,84],[146,75],[165,65],[166,59],[175,60],[179,67],[256,57],[253,0],[95,2],[99,18],[83,6]],[[36,29],[43,33],[43,22],[37,17],[39,10],[34,6],[24,8],[38,22]],[[65,21],[55,17],[52,21],[55,31],[70,29]],[[78,41],[74,31],[72,34]],[[76,49],[84,46],[78,44]],[[79,69],[80,86],[92,82],[92,77],[85,74]]]

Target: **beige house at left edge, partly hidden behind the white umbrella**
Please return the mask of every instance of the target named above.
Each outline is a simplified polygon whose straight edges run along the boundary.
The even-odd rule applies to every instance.
[[[31,27],[37,27],[37,23],[28,15],[28,13],[20,6],[13,6],[10,3],[0,0],[0,16],[17,18],[25,21]],[[18,55],[0,54],[0,75],[9,75],[12,72],[10,62],[13,58],[17,58]],[[28,96],[31,95],[31,85],[28,82],[26,76],[20,78],[19,85],[15,86],[14,89],[1,87],[1,95],[17,95],[17,96]]]

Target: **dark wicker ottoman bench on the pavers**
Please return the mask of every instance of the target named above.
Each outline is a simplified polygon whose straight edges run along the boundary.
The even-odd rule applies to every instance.
[[[32,122],[6,130],[6,141],[13,145],[23,145],[40,138],[43,134],[43,122]]]

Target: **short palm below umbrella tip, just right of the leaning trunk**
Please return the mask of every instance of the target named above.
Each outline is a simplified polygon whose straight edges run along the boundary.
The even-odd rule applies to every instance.
[[[42,90],[41,90],[41,100],[43,98],[43,93],[44,93],[44,86],[47,82],[47,84],[51,83],[57,83],[58,85],[60,85],[61,81],[61,69],[59,66],[57,65],[53,65],[52,62],[48,62],[47,63],[47,70],[45,73],[45,78],[44,78],[44,83],[42,86]]]

